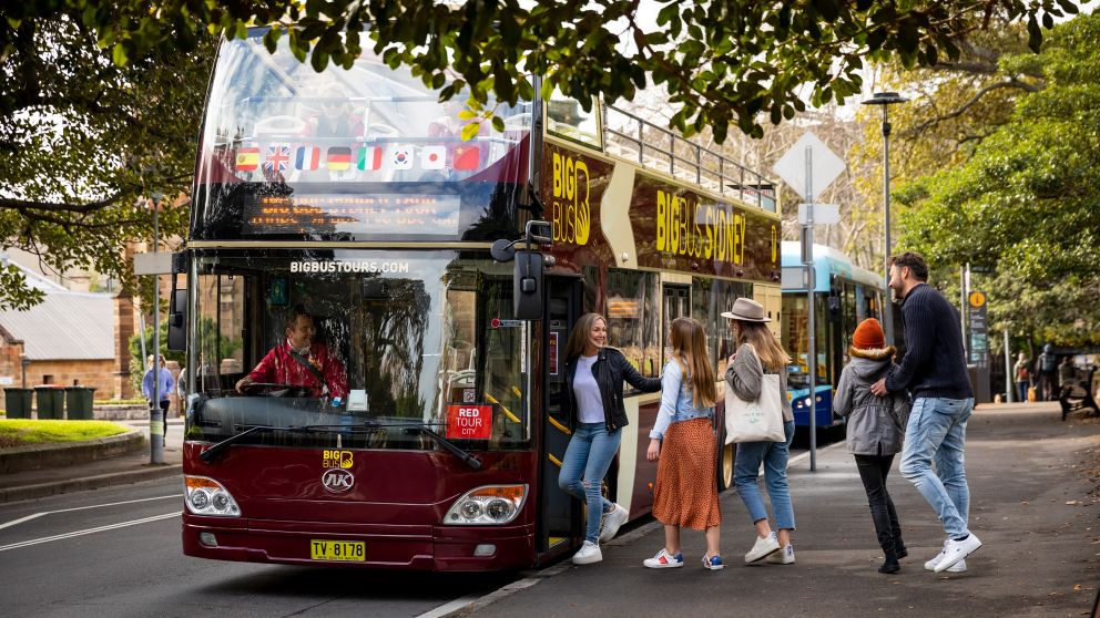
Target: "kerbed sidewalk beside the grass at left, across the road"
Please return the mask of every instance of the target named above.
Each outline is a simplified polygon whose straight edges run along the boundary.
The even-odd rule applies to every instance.
[[[75,466],[48,467],[0,474],[0,502],[37,499],[53,494],[126,485],[174,476],[183,461],[183,419],[169,421],[164,465],[150,463],[149,421],[119,421],[138,429],[145,437],[141,450]]]

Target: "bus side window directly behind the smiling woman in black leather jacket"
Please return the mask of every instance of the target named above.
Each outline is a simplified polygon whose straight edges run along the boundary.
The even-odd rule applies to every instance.
[[[654,272],[608,269],[608,341],[642,375],[661,374],[660,290]]]

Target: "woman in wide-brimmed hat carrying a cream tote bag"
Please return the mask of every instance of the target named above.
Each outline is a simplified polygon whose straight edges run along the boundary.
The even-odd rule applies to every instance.
[[[730,320],[733,339],[737,344],[737,351],[726,364],[726,385],[742,400],[755,401],[761,393],[763,367],[764,373],[780,375],[780,392],[787,392],[786,365],[791,359],[765,325],[772,320],[764,317],[764,307],[755,300],[739,298],[733,303],[733,309],[722,313],[722,317]],[[756,528],[753,547],[745,554],[746,563],[767,558],[770,563],[794,564],[794,546],[791,544],[791,533],[795,529],[794,507],[791,505],[791,490],[787,484],[787,460],[791,457],[791,441],[794,440],[794,413],[786,396],[781,398],[781,401],[786,441],[737,444],[734,484]],[[768,525],[764,497],[756,486],[762,463],[777,533]]]

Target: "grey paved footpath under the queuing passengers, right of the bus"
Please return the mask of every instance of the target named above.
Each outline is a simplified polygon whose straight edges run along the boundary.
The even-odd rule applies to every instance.
[[[882,575],[867,499],[854,460],[838,444],[792,466],[798,529],[794,565],[746,566],[753,532],[734,492],[721,498],[725,570],[706,571],[701,533],[683,535],[685,566],[642,560],[663,544],[656,524],[621,534],[603,563],[568,562],[457,615],[495,616],[1089,616],[1100,585],[1100,420],[1059,420],[1057,404],[987,405],[968,425],[970,527],[985,546],[965,574],[924,562],[943,528],[897,473],[889,491],[909,557]]]

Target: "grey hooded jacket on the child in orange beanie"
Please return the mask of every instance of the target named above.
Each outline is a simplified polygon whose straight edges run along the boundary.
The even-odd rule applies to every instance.
[[[903,429],[897,426],[890,409],[898,411],[904,423],[908,394],[903,391],[877,396],[870,392],[870,385],[894,364],[894,353],[893,346],[880,350],[848,348],[852,360],[841,372],[833,410],[848,416],[847,445],[853,455],[894,455],[902,450]]]

